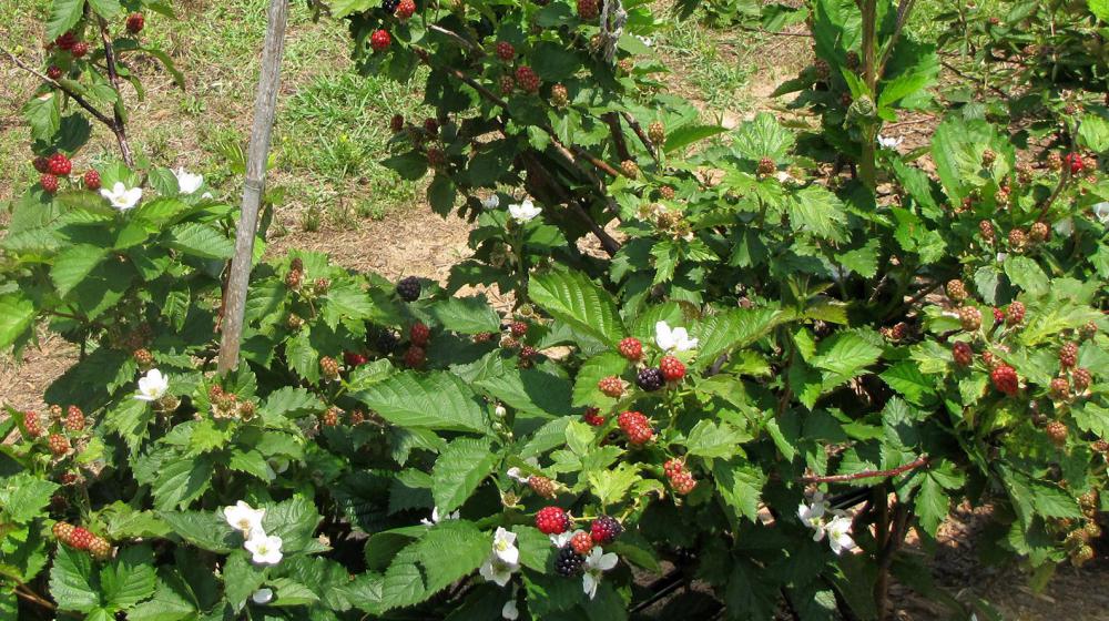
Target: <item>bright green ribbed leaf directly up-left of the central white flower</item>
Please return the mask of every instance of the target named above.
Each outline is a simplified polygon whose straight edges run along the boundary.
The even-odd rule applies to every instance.
[[[552,269],[537,274],[529,293],[536,305],[576,330],[612,346],[623,338],[612,296],[580,272]]]

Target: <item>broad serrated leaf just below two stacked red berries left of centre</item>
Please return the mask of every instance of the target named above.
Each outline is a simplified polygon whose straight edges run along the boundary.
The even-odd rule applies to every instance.
[[[449,373],[397,374],[354,394],[383,418],[401,427],[445,431],[489,430],[489,420],[459,377]]]

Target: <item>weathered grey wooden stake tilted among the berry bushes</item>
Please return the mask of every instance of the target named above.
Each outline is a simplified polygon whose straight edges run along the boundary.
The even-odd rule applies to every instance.
[[[232,370],[238,364],[246,291],[254,262],[254,235],[258,227],[258,208],[262,205],[262,193],[265,189],[269,139],[277,110],[281,58],[285,50],[285,22],[287,19],[288,0],[271,0],[266,39],[262,49],[262,71],[258,77],[257,95],[254,100],[251,146],[246,154],[243,210],[238,218],[238,228],[235,232],[235,256],[231,261],[227,288],[224,292],[224,316],[217,367],[221,375]]]

